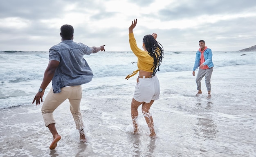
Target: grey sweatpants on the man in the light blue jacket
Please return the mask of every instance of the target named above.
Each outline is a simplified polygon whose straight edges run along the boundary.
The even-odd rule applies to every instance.
[[[205,85],[207,87],[207,91],[211,90],[211,74],[213,72],[213,68],[209,69],[199,69],[198,75],[196,76],[195,82],[197,85],[197,90],[201,90],[201,80],[205,76]]]

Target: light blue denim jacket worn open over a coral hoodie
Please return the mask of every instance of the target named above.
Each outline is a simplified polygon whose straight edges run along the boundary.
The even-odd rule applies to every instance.
[[[193,67],[193,71],[195,71],[199,66],[200,66],[200,57],[201,57],[201,52],[197,51],[196,56],[195,56],[195,65]],[[209,68],[213,67],[213,62],[212,62],[212,52],[211,49],[207,48],[204,51],[204,65],[208,65]]]

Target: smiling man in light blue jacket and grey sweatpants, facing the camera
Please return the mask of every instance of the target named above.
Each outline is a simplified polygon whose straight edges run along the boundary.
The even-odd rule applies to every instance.
[[[197,85],[198,93],[202,94],[201,90],[201,80],[205,76],[205,85],[208,91],[208,98],[211,97],[211,74],[213,72],[213,62],[212,62],[212,52],[211,49],[205,46],[204,40],[199,41],[199,49],[196,52],[195,64],[193,67],[193,76],[195,76],[195,70],[199,67],[198,74],[196,76],[195,82]]]

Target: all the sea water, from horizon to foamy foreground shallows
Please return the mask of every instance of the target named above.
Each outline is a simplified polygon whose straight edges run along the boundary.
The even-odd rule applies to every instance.
[[[0,52],[0,157],[256,157],[256,52],[214,52],[211,99],[202,79],[195,94],[196,52],[165,51],[157,77],[160,99],[150,109],[156,139],[139,108],[139,134],[132,134],[130,102],[137,70],[132,52],[84,56],[94,72],[82,85],[81,112],[87,143],[79,142],[69,103],[54,111],[62,139],[52,135],[41,105],[31,104],[40,87],[48,52]],[[197,74],[198,70],[195,71]],[[48,85],[43,100],[49,92]]]

